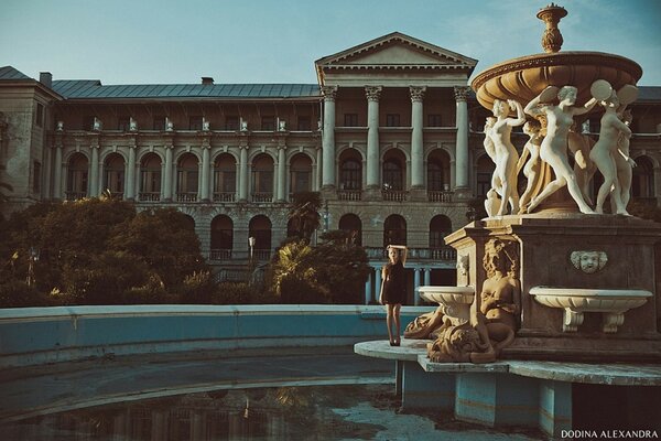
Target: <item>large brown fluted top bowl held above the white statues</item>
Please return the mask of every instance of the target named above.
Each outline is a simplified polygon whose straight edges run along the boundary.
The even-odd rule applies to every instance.
[[[516,99],[525,105],[546,86],[575,86],[577,103],[592,98],[589,87],[605,79],[619,89],[642,76],[640,65],[624,56],[602,52],[556,52],[508,60],[481,72],[470,86],[487,109],[495,99]]]

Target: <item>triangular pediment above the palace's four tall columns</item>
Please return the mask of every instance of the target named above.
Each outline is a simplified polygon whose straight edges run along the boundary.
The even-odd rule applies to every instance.
[[[348,49],[315,62],[317,68],[379,68],[389,66],[454,67],[473,69],[476,60],[423,42],[399,32],[393,32],[358,46]]]

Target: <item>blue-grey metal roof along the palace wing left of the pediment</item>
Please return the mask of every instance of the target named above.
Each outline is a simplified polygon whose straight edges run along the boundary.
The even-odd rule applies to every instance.
[[[304,98],[319,97],[316,84],[139,84],[104,86],[98,79],[57,79],[53,90],[67,99]]]

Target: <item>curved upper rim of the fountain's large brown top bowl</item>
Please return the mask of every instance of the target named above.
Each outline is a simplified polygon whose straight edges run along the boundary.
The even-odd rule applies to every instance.
[[[606,63],[605,63],[606,61]],[[507,60],[495,64],[480,72],[472,82],[470,87],[478,93],[487,82],[501,75],[525,71],[529,68],[551,67],[551,66],[572,66],[572,65],[595,65],[617,67],[631,74],[636,82],[642,77],[642,67],[633,60],[621,55],[609,54],[606,52],[594,51],[565,51],[554,53],[540,53],[520,56],[518,58]],[[564,85],[554,85],[564,86]]]

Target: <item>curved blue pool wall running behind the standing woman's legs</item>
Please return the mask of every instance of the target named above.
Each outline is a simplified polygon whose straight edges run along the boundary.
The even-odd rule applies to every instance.
[[[430,306],[403,306],[412,321]],[[387,335],[380,305],[121,305],[0,310],[0,369],[120,355],[350,346]]]

